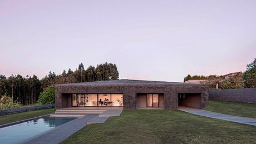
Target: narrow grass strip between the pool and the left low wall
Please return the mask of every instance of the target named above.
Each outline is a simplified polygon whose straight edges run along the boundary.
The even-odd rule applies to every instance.
[[[28,118],[43,116],[43,115],[47,115],[54,112],[55,112],[55,108],[48,108],[45,110],[36,110],[36,111],[14,113],[11,115],[4,115],[4,116],[0,116],[0,125],[10,123],[10,122],[26,120]]]

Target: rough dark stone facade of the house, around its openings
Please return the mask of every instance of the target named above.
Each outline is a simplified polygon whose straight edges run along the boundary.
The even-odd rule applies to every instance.
[[[116,80],[121,81],[121,80]],[[129,80],[127,80],[129,81]],[[143,81],[142,81],[143,82]],[[160,83],[151,81],[150,84],[126,82],[110,84],[104,83],[75,83],[56,85],[56,108],[62,108],[62,96],[71,93],[122,93],[124,109],[136,109],[138,93],[163,93],[164,108],[175,110],[178,108],[178,93],[199,93],[200,108],[208,104],[208,86],[189,83]],[[90,84],[90,85],[89,85]]]

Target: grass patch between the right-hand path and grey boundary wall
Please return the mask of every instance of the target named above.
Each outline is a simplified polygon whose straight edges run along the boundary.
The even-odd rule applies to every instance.
[[[256,118],[256,104],[250,103],[209,101],[209,105],[204,110],[233,116]]]

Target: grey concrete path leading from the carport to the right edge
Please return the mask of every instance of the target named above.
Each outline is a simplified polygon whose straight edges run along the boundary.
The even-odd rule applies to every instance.
[[[199,115],[199,116],[204,116],[204,117],[211,117],[211,118],[216,118],[216,119],[220,119],[220,120],[238,122],[238,123],[244,123],[244,124],[247,124],[247,125],[256,126],[256,118],[231,116],[231,115],[225,115],[225,114],[222,114],[222,113],[199,110],[199,109],[196,109],[196,108],[189,108],[189,107],[179,107],[178,110],[188,112],[188,113],[192,113],[194,115]]]

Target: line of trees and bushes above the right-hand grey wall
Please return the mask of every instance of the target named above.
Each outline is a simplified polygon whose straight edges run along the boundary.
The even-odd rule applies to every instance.
[[[247,69],[244,73],[237,73],[229,78],[224,76],[191,76],[184,77],[184,82],[188,80],[204,80],[201,83],[209,85],[209,88],[215,88],[218,84],[219,88],[230,89],[230,88],[250,88],[256,87],[256,58],[254,61],[247,64]]]

